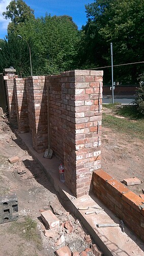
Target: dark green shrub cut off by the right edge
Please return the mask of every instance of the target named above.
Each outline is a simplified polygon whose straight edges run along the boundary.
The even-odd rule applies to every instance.
[[[137,110],[139,113],[144,115],[144,73],[139,76],[140,87],[136,91],[136,100]]]

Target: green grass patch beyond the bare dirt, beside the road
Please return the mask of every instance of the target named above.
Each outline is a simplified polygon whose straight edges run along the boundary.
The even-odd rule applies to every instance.
[[[124,116],[127,119],[103,113],[103,126],[114,130],[114,132],[126,133],[130,137],[144,139],[144,116],[137,113],[135,105],[118,106],[115,104],[111,106],[111,104],[106,104],[104,106],[111,109],[112,113]]]

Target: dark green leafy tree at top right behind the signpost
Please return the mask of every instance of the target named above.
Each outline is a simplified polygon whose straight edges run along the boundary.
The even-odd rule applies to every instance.
[[[82,28],[85,55],[97,66],[110,65],[110,42],[114,64],[138,62],[144,55],[143,0],[96,0],[86,7],[88,22]],[[140,66],[114,69],[115,78],[136,82]]]

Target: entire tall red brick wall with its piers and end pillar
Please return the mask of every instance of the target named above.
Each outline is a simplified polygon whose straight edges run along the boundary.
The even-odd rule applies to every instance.
[[[38,153],[48,147],[49,120],[50,147],[75,197],[89,194],[92,174],[101,167],[102,78],[103,71],[90,70],[4,78],[10,121],[32,134]]]

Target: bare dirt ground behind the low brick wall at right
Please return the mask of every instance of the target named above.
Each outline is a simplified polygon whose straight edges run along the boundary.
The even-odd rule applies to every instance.
[[[113,115],[110,110],[104,110],[104,112]],[[122,118],[118,115],[117,117]],[[143,140],[102,126],[101,168],[121,182],[133,177],[140,179],[141,184],[128,186],[129,190],[137,195],[142,194],[144,189],[143,156]]]

